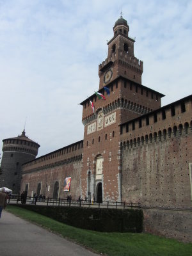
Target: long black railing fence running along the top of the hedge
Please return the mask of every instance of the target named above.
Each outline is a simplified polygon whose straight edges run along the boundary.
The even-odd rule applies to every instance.
[[[35,205],[47,205],[47,206],[68,206],[68,207],[97,207],[97,208],[115,208],[115,209],[127,209],[127,208],[140,208],[140,203],[127,203],[127,202],[113,202],[103,201],[95,202],[92,200],[68,200],[62,198],[50,198],[50,197],[33,197],[26,196],[24,199],[20,199],[17,195],[11,195],[8,198],[8,204],[35,204]]]

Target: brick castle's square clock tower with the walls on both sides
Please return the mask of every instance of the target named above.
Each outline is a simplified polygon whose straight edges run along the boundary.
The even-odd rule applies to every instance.
[[[192,95],[161,107],[122,16],[113,33],[99,65],[104,99],[81,102],[84,139],[23,164],[21,190],[140,202],[146,231],[191,241]]]

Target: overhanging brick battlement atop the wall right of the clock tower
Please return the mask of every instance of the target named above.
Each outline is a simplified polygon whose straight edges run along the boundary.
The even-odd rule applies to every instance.
[[[161,136],[163,138],[170,137],[171,134],[176,136],[182,132],[182,129],[187,133],[188,128],[192,127],[191,100],[192,95],[189,95],[120,125],[121,141],[124,143],[131,141],[131,145],[132,143],[136,145],[141,141],[148,143],[148,140],[156,140],[157,137],[160,140]],[[168,122],[166,118],[168,118]]]

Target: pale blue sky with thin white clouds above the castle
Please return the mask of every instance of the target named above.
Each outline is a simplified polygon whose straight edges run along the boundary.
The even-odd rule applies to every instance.
[[[25,121],[38,156],[83,140],[78,104],[99,88],[121,10],[142,84],[166,95],[163,106],[191,94],[190,0],[0,0],[1,148]]]

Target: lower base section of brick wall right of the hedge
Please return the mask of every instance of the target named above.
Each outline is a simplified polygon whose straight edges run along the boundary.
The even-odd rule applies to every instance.
[[[192,242],[192,211],[143,209],[143,231]]]

